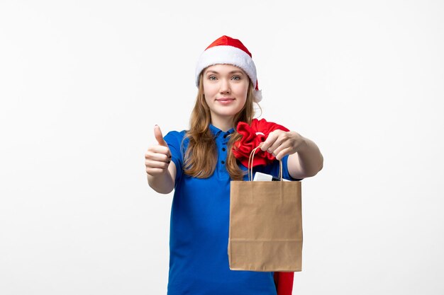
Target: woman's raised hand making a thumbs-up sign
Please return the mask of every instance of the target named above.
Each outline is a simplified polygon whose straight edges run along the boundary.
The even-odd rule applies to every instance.
[[[171,162],[171,152],[167,142],[162,137],[160,127],[155,125],[154,137],[157,144],[150,146],[145,153],[146,173],[157,176],[167,173]]]

